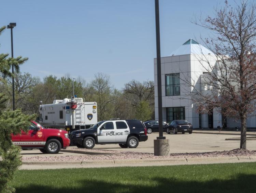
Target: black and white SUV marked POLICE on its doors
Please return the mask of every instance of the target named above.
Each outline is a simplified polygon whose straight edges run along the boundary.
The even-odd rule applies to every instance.
[[[79,148],[93,148],[95,144],[119,144],[122,148],[136,148],[146,141],[147,130],[139,120],[100,121],[89,129],[71,133],[72,142]]]

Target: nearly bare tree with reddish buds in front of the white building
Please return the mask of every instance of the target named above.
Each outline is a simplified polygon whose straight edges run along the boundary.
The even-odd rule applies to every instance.
[[[215,9],[214,17],[194,21],[213,33],[204,43],[215,54],[216,63],[209,55],[197,58],[208,72],[201,82],[209,89],[191,84],[193,101],[200,112],[215,108],[224,116],[239,118],[242,149],[246,149],[246,118],[256,110],[255,11],[254,2],[242,1],[233,8],[225,1],[224,7]]]

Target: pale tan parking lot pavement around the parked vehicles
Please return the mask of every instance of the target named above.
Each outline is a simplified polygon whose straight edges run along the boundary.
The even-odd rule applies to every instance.
[[[232,132],[234,133],[234,132]],[[231,132],[230,132],[231,134]],[[120,148],[118,144],[95,145],[95,150],[132,151],[142,153],[154,153],[154,139],[158,133],[148,135],[148,140],[140,142],[137,148]],[[256,133],[255,133],[256,135]],[[225,140],[226,138],[239,137],[239,135],[220,134],[164,134],[170,140],[170,153],[194,153],[233,150],[239,148],[239,140]],[[74,146],[76,147],[76,146]],[[71,147],[68,147],[68,149]],[[247,140],[247,149],[256,150],[256,140]],[[79,153],[60,152],[59,154],[43,154],[39,150],[22,150],[24,157],[32,156],[75,156]]]

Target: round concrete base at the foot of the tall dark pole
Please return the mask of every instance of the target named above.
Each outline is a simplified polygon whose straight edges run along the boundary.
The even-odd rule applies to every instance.
[[[155,139],[154,140],[154,155],[167,156],[170,151],[169,139]]]

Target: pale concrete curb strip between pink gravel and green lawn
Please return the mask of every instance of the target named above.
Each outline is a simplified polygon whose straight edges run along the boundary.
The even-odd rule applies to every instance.
[[[157,159],[112,159],[94,161],[30,162],[23,161],[22,170],[64,169],[64,168],[106,168],[125,166],[190,165],[210,163],[256,162],[256,156],[203,157],[203,158],[157,158]]]

